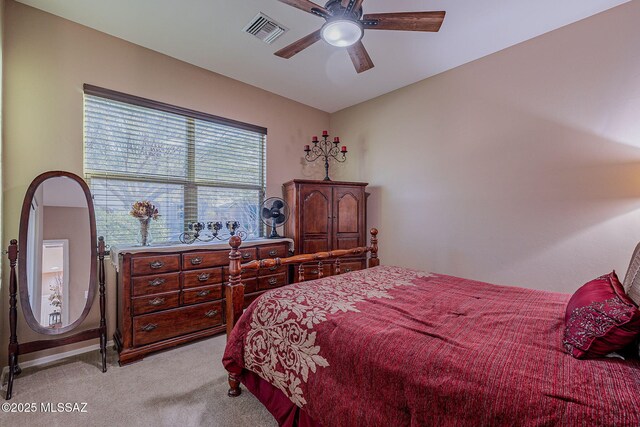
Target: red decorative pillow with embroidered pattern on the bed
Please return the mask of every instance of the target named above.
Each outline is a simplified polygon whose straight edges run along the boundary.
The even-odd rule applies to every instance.
[[[606,356],[640,334],[640,311],[613,271],[587,282],[567,304],[564,348],[578,359]]]

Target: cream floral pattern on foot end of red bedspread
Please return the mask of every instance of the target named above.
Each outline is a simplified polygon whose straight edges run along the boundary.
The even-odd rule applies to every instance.
[[[379,267],[327,277],[270,291],[256,300],[251,329],[245,339],[245,367],[303,407],[302,382],[329,361],[316,345],[314,327],[336,313],[359,312],[356,304],[367,299],[393,299],[389,290],[415,286],[425,272]]]

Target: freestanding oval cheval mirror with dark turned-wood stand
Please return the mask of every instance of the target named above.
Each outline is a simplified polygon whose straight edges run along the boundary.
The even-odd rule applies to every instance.
[[[11,399],[14,377],[21,372],[18,356],[22,354],[99,338],[102,372],[107,370],[104,239],[96,239],[93,200],[84,180],[63,171],[36,177],[22,204],[19,240],[12,240],[8,250],[11,270],[7,400]],[[20,306],[29,327],[39,334],[59,336],[79,327],[89,314],[96,294],[96,276],[100,284],[99,327],[18,343],[18,285]]]

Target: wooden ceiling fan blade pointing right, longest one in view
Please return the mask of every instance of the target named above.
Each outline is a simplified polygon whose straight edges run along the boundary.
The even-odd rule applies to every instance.
[[[362,17],[367,30],[438,32],[446,12],[372,13]]]

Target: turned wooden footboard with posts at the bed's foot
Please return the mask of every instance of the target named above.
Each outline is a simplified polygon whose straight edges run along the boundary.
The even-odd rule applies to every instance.
[[[304,278],[304,263],[317,262],[318,263],[318,277],[322,277],[322,265],[327,260],[335,260],[335,274],[340,274],[340,258],[353,255],[363,255],[370,253],[371,256],[367,262],[367,268],[377,267],[380,265],[380,259],[378,259],[378,230],[371,229],[371,246],[359,247],[353,249],[339,249],[329,252],[316,252],[314,254],[302,254],[295,255],[288,258],[267,258],[260,260],[253,260],[247,263],[241,264],[242,258],[240,251],[240,244],[242,240],[238,236],[233,236],[229,239],[229,246],[231,246],[231,252],[229,253],[229,283],[225,288],[226,298],[226,320],[227,320],[227,336],[233,330],[233,327],[238,322],[242,310],[244,308],[244,285],[242,284],[242,270],[258,270],[259,268],[271,268],[279,267],[281,265],[300,264],[298,268],[298,281],[303,282]]]

